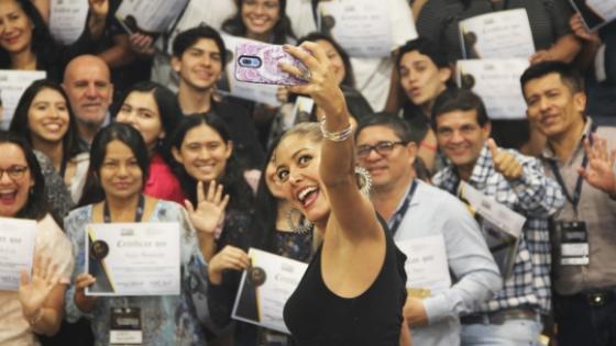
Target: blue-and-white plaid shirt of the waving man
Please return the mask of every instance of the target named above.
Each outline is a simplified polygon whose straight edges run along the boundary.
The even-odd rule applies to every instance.
[[[486,196],[527,217],[524,224],[513,274],[494,299],[483,303],[477,313],[494,312],[521,305],[537,308],[541,314],[550,311],[551,247],[548,219],[564,204],[559,185],[547,178],[541,163],[516,150],[507,150],[522,165],[522,176],[508,181],[494,170],[492,154],[485,146],[475,163],[469,183]],[[436,186],[458,193],[460,178],[449,164],[439,171]]]

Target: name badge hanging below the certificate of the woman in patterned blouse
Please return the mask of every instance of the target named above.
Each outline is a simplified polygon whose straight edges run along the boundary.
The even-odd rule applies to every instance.
[[[112,346],[141,345],[143,332],[141,330],[141,309],[111,309],[111,331],[109,343]]]

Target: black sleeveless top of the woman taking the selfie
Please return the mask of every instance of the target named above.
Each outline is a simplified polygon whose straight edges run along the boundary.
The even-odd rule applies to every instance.
[[[383,267],[371,287],[356,298],[331,292],[321,277],[319,247],[299,286],[289,297],[285,323],[299,346],[397,346],[406,301],[406,256],[387,226]]]

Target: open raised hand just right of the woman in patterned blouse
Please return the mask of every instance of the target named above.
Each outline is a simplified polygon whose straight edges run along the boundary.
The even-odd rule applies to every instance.
[[[204,182],[199,181],[197,183],[197,208],[188,200],[184,201],[184,205],[195,228],[213,235],[224,215],[229,194],[222,196],[222,185],[217,183],[216,180],[210,181],[206,193]]]

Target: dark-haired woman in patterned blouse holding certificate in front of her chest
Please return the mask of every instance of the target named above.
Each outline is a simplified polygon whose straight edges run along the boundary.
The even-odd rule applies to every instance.
[[[95,204],[74,210],[66,219],[67,233],[77,254],[74,284],[67,292],[67,320],[91,319],[96,345],[109,345],[110,319],[114,308],[139,309],[143,345],[202,345],[205,333],[195,309],[196,297],[205,287],[205,261],[201,234],[213,232],[196,224],[175,202],[157,200],[142,193],[147,179],[148,156],[142,135],[125,124],[102,129],[90,150],[90,177],[96,179],[89,192],[99,198]],[[208,200],[210,201],[210,200]],[[212,203],[217,205],[217,203]],[[193,220],[204,219],[195,213]],[[207,217],[206,217],[207,219]],[[151,297],[87,297],[85,289],[95,278],[85,271],[85,227],[89,223],[176,222],[180,227],[180,293]]]

